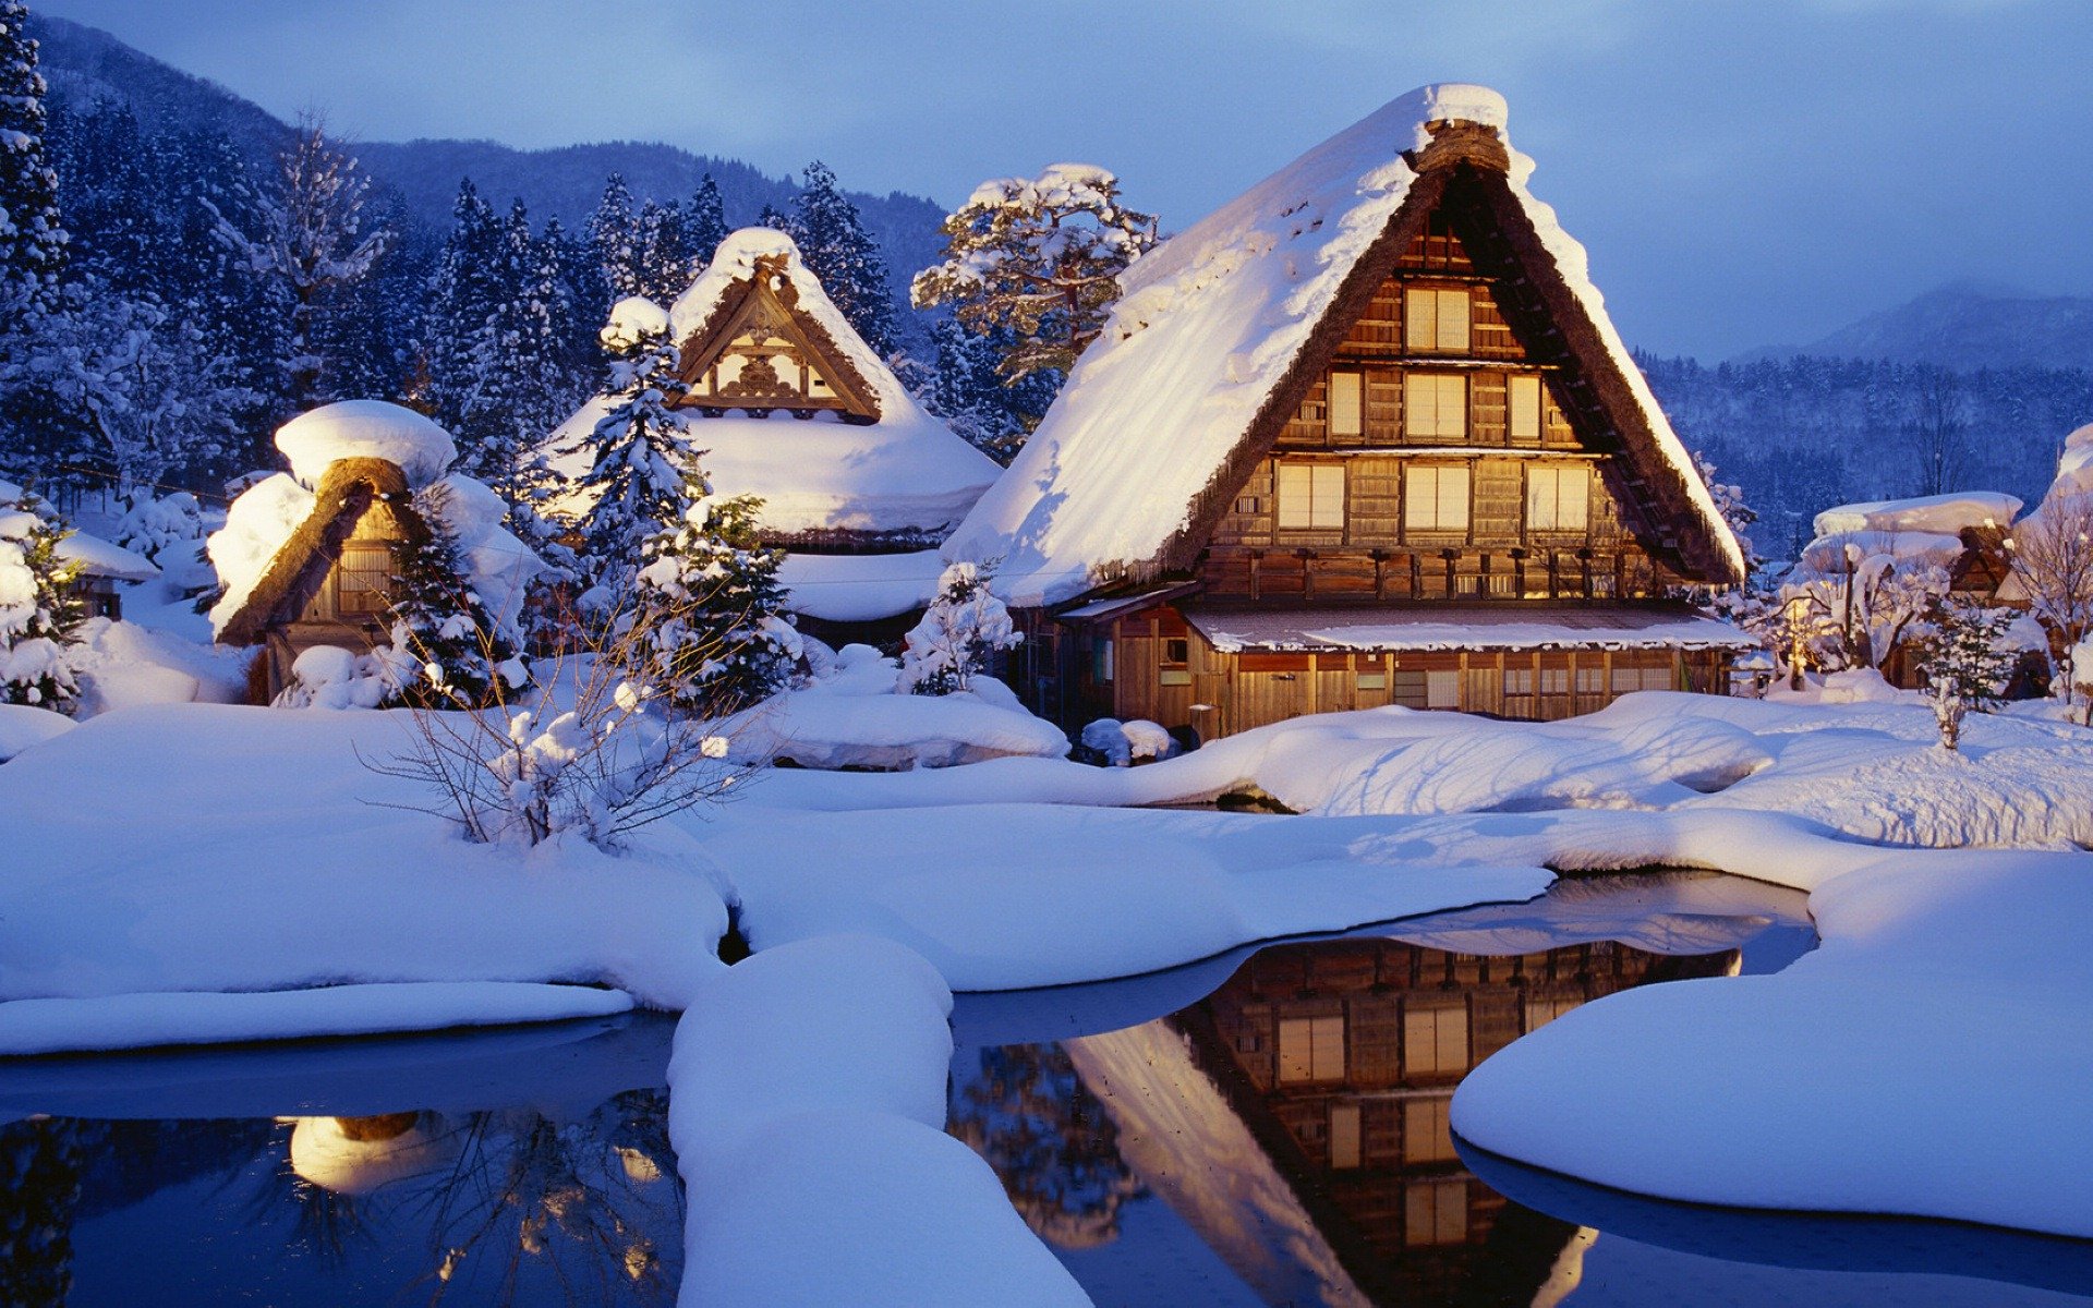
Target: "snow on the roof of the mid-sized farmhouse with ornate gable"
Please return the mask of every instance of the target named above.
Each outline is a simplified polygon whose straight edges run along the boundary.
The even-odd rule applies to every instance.
[[[737,283],[756,276],[756,260],[779,255],[785,255],[783,272],[800,297],[795,312],[829,333],[877,398],[879,421],[856,425],[829,412],[756,419],[741,410],[705,419],[684,410],[691,414],[691,442],[705,452],[701,463],[714,494],[760,496],[764,506],[758,519],[774,536],[950,532],[1003,469],[917,406],[885,360],[835,308],[820,278],[808,272],[791,236],[743,228],[722,241],[712,264],[668,312],[672,337],[689,341]],[[636,310],[626,316],[632,314]],[[588,435],[611,408],[613,400],[597,396],[561,423],[546,444],[553,467],[567,477],[584,475]]]

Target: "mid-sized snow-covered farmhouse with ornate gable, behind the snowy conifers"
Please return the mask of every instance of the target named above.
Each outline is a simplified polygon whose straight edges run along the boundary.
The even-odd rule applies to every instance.
[[[762,498],[766,544],[804,628],[896,638],[929,603],[936,546],[996,479],[992,458],[923,412],[850,326],[791,236],[743,228],[668,310],[691,439],[718,496]],[[553,433],[569,477],[613,400]]]

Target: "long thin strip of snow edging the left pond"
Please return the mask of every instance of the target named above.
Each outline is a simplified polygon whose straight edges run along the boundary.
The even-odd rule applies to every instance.
[[[48,1055],[144,1044],[435,1032],[603,1017],[632,1009],[622,990],[519,982],[327,986],[262,994],[105,994],[0,1005],[0,1055]]]

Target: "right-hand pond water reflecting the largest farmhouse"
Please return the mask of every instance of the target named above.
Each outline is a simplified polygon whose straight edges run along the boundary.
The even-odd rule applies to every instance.
[[[1532,1205],[1507,1199],[1457,1151],[1448,1105],[1482,1059],[1633,986],[1775,971],[1813,942],[1802,904],[1727,877],[1576,881],[1534,904],[1270,946],[1203,977],[967,996],[963,1034],[1009,1040],[1030,1019],[1049,1038],[963,1046],[952,1130],[1099,1304],[2053,1302],[1982,1270],[1999,1241],[1953,1266],[1877,1241],[1829,1254],[1813,1266],[1840,1272],[1810,1281],[1752,1266],[1781,1260],[1754,1258],[1716,1216],[1695,1249],[1743,1262],[1672,1254],[1616,1231],[1616,1210],[1545,1187],[1517,1189]],[[1197,979],[1203,998],[1111,1028]],[[2087,1287],[2072,1281],[2085,1258],[2051,1266],[2032,1283]],[[1921,1277],[1894,1289],[1892,1268]]]

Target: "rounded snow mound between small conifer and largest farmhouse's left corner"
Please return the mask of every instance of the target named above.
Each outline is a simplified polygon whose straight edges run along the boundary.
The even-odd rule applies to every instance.
[[[902,695],[898,666],[871,645],[846,645],[806,686],[772,695],[720,726],[735,762],[802,768],[950,768],[988,758],[1061,758],[1067,737],[1019,707],[1009,686],[980,678],[957,695]]]

